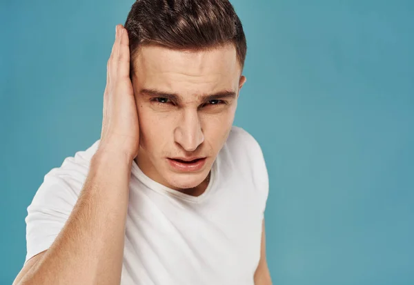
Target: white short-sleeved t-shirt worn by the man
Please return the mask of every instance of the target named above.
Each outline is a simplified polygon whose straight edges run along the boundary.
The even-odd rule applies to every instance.
[[[63,228],[98,144],[44,177],[28,206],[26,261],[48,249]],[[121,285],[253,285],[267,197],[262,150],[235,126],[199,197],[157,183],[134,161]]]

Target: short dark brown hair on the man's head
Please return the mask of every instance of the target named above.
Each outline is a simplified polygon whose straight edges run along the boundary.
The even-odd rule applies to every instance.
[[[125,28],[131,63],[137,48],[144,44],[207,50],[234,43],[240,66],[244,66],[246,37],[228,0],[137,0],[128,13]],[[132,73],[132,64],[131,68]]]

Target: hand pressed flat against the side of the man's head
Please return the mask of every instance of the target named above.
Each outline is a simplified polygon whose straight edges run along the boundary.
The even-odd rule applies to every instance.
[[[103,94],[103,121],[99,150],[126,154],[135,159],[139,150],[139,124],[130,80],[127,30],[117,25],[115,43],[108,59]]]

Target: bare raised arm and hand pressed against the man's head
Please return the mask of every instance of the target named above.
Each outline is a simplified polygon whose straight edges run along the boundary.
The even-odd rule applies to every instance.
[[[101,141],[88,177],[55,242],[26,262],[14,285],[119,285],[130,170],[139,146],[129,61],[127,32],[117,26],[108,60]]]

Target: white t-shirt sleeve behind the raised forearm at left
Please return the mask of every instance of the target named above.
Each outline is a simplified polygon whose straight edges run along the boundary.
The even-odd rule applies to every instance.
[[[25,263],[50,248],[68,220],[88,173],[85,157],[78,152],[45,175],[27,208]]]

